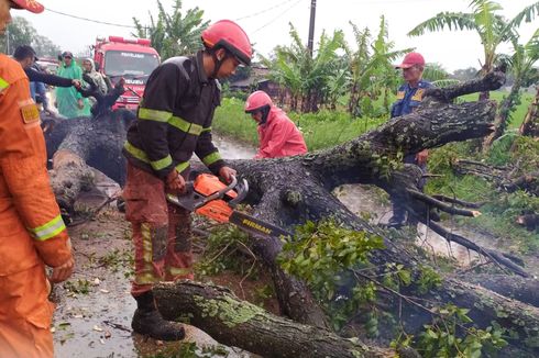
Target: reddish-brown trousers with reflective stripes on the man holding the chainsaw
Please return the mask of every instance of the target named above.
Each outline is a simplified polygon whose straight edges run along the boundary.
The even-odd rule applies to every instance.
[[[123,191],[135,246],[134,297],[163,280],[193,279],[190,213],[165,199],[164,182],[128,164]]]

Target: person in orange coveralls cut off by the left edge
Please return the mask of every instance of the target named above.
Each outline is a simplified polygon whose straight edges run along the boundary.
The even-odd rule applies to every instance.
[[[35,0],[0,0],[0,34],[10,9],[43,11]],[[53,357],[51,282],[74,259],[48,183],[40,113],[21,65],[0,54],[0,357]]]

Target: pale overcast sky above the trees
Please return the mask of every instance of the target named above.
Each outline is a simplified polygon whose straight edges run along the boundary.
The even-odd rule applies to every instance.
[[[131,36],[133,29],[112,26],[82,21],[57,14],[67,14],[102,22],[133,25],[133,16],[148,23],[148,13],[157,14],[154,0],[42,0],[46,9],[35,15],[26,11],[13,11],[13,15],[26,18],[41,35],[47,36],[63,51],[88,53],[97,36]],[[442,11],[470,12],[470,0],[317,0],[315,42],[322,30],[327,33],[343,30],[346,40],[353,43],[353,22],[360,29],[367,26],[377,33],[380,16],[385,15],[388,23],[389,40],[395,49],[416,47],[428,63],[438,63],[449,71],[459,68],[480,67],[483,49],[474,32],[450,32],[444,30],[427,33],[418,37],[406,34],[422,21]],[[504,8],[502,13],[513,18],[535,0],[497,0]],[[165,9],[172,10],[173,0],[162,0]],[[255,44],[255,52],[265,56],[276,45],[290,43],[289,25],[293,23],[301,38],[307,43],[311,0],[184,0],[183,9],[198,7],[205,11],[205,19],[211,22],[235,20]],[[521,42],[528,41],[539,27],[539,18],[520,27]],[[316,46],[315,46],[316,48]],[[501,47],[509,53],[508,45]]]

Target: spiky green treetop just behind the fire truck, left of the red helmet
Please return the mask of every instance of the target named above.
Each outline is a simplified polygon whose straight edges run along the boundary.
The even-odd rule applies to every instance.
[[[165,11],[162,2],[157,0],[157,21],[150,14],[150,25],[143,26],[133,18],[136,26],[135,35],[148,37],[163,59],[178,55],[193,55],[201,47],[200,33],[208,26],[204,21],[204,10],[188,9],[185,15],[182,12],[182,0],[176,0],[174,11]]]

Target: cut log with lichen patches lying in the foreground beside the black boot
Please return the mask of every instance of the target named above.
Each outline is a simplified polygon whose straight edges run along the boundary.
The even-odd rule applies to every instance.
[[[263,357],[396,357],[392,349],[370,347],[328,329],[275,316],[218,286],[160,283],[154,293],[165,318],[190,313],[189,323],[218,342]]]

